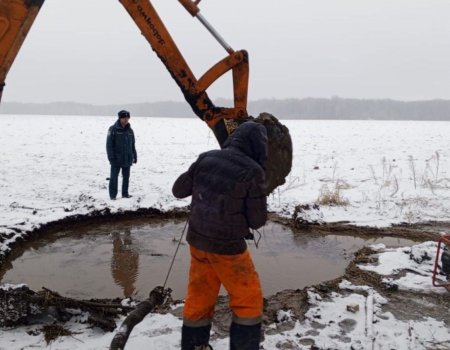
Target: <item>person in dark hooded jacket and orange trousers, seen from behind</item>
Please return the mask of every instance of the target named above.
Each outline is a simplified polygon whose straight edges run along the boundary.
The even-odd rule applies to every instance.
[[[223,149],[201,154],[173,186],[175,197],[192,196],[182,350],[211,349],[209,333],[221,284],[233,311],[230,349],[259,349],[263,298],[245,239],[250,228],[267,220],[266,159],[266,129],[248,121]]]

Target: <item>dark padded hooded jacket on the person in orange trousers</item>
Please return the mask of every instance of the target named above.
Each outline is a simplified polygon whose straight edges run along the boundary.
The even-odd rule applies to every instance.
[[[189,244],[216,254],[245,251],[249,228],[260,228],[267,220],[266,159],[266,129],[250,121],[236,129],[223,149],[202,153],[179,176],[174,196],[192,195]]]

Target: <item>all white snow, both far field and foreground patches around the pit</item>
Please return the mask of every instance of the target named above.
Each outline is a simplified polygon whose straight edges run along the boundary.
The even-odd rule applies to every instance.
[[[0,121],[0,254],[21,235],[67,216],[106,208],[119,212],[185,206],[188,200],[176,200],[171,195],[173,181],[199,153],[218,148],[213,134],[198,119],[132,117],[138,152],[130,179],[133,197],[111,202],[105,141],[114,117],[2,115]],[[290,215],[297,204],[312,204],[326,193],[336,195],[339,191],[347,205],[322,205],[321,215],[326,222],[345,220],[357,225],[389,226],[450,221],[450,123],[299,120],[284,124],[291,132],[294,163],[286,184],[270,196],[270,210]],[[429,243],[423,249],[432,255],[435,244]],[[371,267],[379,269],[380,274],[395,269],[399,261],[408,265],[401,250],[382,254],[391,255],[380,259],[379,266]],[[429,275],[430,266],[414,267],[420,268]],[[401,288],[442,292],[430,287],[430,279],[417,282],[414,278],[406,275],[397,283]],[[346,293],[325,301],[311,290],[313,307],[306,321],[297,322],[294,330],[282,335],[267,335],[264,348],[276,349],[276,344],[290,342],[292,349],[310,349],[306,341],[300,341],[306,336],[324,349],[450,348],[448,325],[431,318],[396,320],[381,311],[386,300],[376,291],[364,286],[342,286],[342,290],[361,288],[369,290],[366,300],[359,293]],[[345,311],[351,303],[362,303],[364,309],[369,301],[373,302],[369,312]],[[318,313],[319,321],[314,317]],[[368,331],[365,317],[369,314],[375,320]],[[340,317],[355,322],[348,332],[349,342],[333,336],[342,331]],[[313,321],[323,323],[325,328],[311,331]],[[180,327],[181,321],[173,316],[149,315],[133,331],[127,349],[177,349]],[[108,348],[112,334],[87,329],[74,321],[72,330],[79,329],[84,333],[61,338],[49,348]],[[227,339],[213,346],[227,349]],[[0,349],[35,348],[45,348],[42,335],[28,335],[25,328],[0,331]]]

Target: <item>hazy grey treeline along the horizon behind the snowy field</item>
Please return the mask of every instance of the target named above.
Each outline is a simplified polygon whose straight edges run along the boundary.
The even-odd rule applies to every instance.
[[[226,99],[217,106],[231,106]],[[147,117],[193,117],[186,102],[151,102],[122,105],[91,105],[75,102],[16,103],[0,105],[0,114],[47,115],[115,115],[128,109],[132,115]],[[346,98],[263,99],[251,101],[248,111],[253,116],[269,112],[285,119],[378,119],[378,120],[447,120],[450,121],[450,100],[395,101]]]

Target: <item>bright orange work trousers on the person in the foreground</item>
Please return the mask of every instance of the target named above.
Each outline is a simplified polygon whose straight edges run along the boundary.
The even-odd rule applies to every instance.
[[[261,322],[263,297],[258,273],[248,250],[237,255],[208,253],[190,246],[191,267],[183,323],[190,327],[211,324],[220,285],[230,297],[233,322]]]

